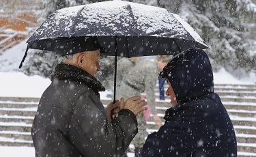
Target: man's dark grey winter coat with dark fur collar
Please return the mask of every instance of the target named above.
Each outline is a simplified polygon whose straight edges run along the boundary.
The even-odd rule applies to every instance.
[[[35,156],[121,156],[137,134],[137,119],[128,109],[109,123],[99,91],[89,73],[66,64],[55,67],[32,126]]]

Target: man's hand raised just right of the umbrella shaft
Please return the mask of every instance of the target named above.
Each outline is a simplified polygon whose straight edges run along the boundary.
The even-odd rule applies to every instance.
[[[124,102],[124,100],[121,101]],[[140,96],[134,96],[132,98],[128,98],[128,100],[126,100],[124,102],[124,109],[129,109],[130,111],[132,111],[134,113],[134,115],[139,115],[139,113],[147,110],[147,107],[144,107],[147,103],[145,102],[145,100],[141,100]],[[121,105],[122,108],[122,105]]]

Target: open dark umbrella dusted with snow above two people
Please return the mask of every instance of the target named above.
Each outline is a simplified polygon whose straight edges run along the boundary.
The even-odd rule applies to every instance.
[[[70,40],[80,44],[74,46],[77,42],[72,42],[70,46],[61,46]],[[177,14],[128,1],[105,1],[57,10],[27,40],[27,50],[68,55],[89,50],[80,46],[85,40],[100,45],[102,55],[115,56],[114,101],[117,56],[176,55],[189,48],[208,48]]]

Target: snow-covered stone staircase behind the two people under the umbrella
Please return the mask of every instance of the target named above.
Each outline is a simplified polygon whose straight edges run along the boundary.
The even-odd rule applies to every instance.
[[[238,156],[256,156],[256,85],[215,85],[215,92],[231,117],[238,141]],[[165,91],[167,86],[165,85]],[[171,107],[170,100],[158,100],[158,116],[163,117]],[[143,95],[143,94],[142,94]],[[0,97],[0,145],[31,146],[31,126],[40,98]],[[109,104],[111,100],[102,100]],[[163,120],[164,122],[164,120]],[[152,117],[147,121],[147,132],[158,130]]]

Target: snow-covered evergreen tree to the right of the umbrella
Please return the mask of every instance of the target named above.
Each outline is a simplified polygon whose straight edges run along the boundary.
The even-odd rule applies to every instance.
[[[158,0],[158,5],[180,14],[211,47],[213,66],[235,76],[255,69],[255,2],[250,0]],[[250,24],[250,25],[248,25]]]

